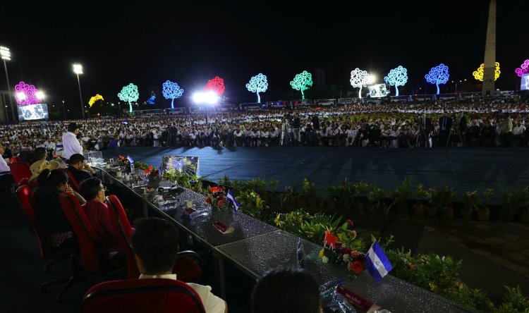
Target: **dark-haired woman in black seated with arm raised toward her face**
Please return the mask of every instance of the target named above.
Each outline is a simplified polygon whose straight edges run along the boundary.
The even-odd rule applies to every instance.
[[[63,214],[59,193],[68,192],[85,203],[83,197],[68,186],[68,174],[59,169],[44,169],[37,177],[39,188],[35,191],[37,202],[37,220],[42,230],[49,237],[52,247],[71,247],[75,245],[70,224]]]

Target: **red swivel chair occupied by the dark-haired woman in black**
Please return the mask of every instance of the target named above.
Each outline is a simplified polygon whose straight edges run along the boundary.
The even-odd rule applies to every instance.
[[[21,185],[16,190],[16,193],[18,195],[18,204],[20,205],[20,208],[23,209],[25,215],[28,216],[33,231],[35,235],[37,235],[37,241],[39,243],[41,257],[44,259],[51,260],[51,262],[48,262],[46,266],[44,266],[44,271],[49,271],[49,266],[51,266],[52,264],[61,262],[67,259],[68,257],[73,258],[73,255],[78,253],[77,247],[61,249],[52,247],[50,245],[49,239],[44,234],[44,231],[42,231],[42,227],[40,226],[40,223],[39,221],[37,221],[37,217],[35,216],[36,202],[35,197],[33,197],[33,192],[30,186]],[[41,289],[44,290],[48,286],[56,285],[57,283],[64,283],[68,281],[68,279],[69,277],[63,277],[55,279],[53,281],[48,281],[47,283],[43,283],[41,285]]]

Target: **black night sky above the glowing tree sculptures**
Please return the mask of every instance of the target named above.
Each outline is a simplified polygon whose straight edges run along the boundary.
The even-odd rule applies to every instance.
[[[229,102],[254,102],[245,83],[257,73],[268,76],[263,101],[285,99],[296,73],[314,75],[317,68],[325,69],[327,85],[346,92],[355,90],[349,83],[353,68],[375,73],[382,82],[399,65],[409,76],[401,94],[422,93],[424,75],[439,63],[449,66],[450,80],[468,80],[458,90],[473,91],[472,71],[483,62],[488,13],[487,0],[107,1],[76,2],[75,7],[14,2],[2,4],[0,19],[0,44],[12,54],[11,87],[24,80],[44,91],[49,104],[64,99],[75,108],[72,64],[77,62],[85,72],[85,102],[96,93],[117,101],[116,94],[130,82],[139,86],[138,102],[144,102],[151,86],[161,90],[162,82],[173,80],[185,90],[176,100],[183,105],[216,75],[224,78]],[[514,69],[529,59],[529,4],[499,0],[497,11],[497,87],[512,90],[519,87]],[[5,78],[0,88],[6,89]],[[427,88],[434,91],[433,85]],[[169,106],[169,100],[159,106]]]

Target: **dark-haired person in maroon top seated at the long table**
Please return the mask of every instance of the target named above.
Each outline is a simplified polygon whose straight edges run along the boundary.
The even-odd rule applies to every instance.
[[[75,155],[75,154],[74,154]],[[102,185],[101,180],[92,177],[83,180],[79,185],[79,193],[85,198],[86,203],[81,207],[85,211],[95,233],[102,239],[117,238],[117,230],[114,228],[109,215],[104,191],[107,188]]]

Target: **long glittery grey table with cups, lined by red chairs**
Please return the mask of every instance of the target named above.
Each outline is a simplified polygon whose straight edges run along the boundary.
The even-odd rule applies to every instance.
[[[130,182],[117,178],[114,172],[98,167],[95,169],[104,183],[131,192],[142,203],[145,217],[156,215],[172,221],[186,235],[212,252],[221,297],[224,299],[226,299],[225,261],[231,262],[257,280],[266,271],[277,266],[296,266],[298,262],[296,248],[301,243],[305,252],[305,268],[315,276],[320,285],[333,280],[343,281],[346,288],[391,312],[470,312],[444,297],[391,275],[386,276],[378,284],[367,271],[351,279],[350,272],[346,269],[320,261],[318,254],[322,249],[321,246],[241,212],[213,208],[205,203],[206,197],[197,192],[185,188],[169,190],[164,194],[170,193],[176,200],[165,204],[155,200],[154,196],[157,192],[145,194],[140,187],[134,187]],[[172,184],[169,181],[162,181],[160,185],[169,188]],[[188,200],[193,201],[193,207],[199,212],[193,219],[186,218],[183,213]],[[235,228],[235,231],[222,234],[214,228],[214,221],[221,221]]]

